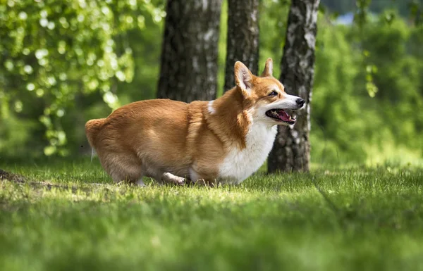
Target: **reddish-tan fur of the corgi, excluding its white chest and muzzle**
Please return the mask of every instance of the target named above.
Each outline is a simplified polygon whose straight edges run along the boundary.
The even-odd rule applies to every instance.
[[[239,80],[236,75],[243,67],[242,63],[235,65],[235,80]],[[282,99],[268,96],[269,85],[278,84],[283,90],[271,77],[269,61],[262,77],[251,76],[250,94],[234,87],[214,101],[213,114],[208,111],[208,101],[137,101],[107,118],[88,121],[87,139],[116,182],[136,182],[142,175],[157,178],[156,171],[188,177],[189,169],[212,181],[229,148],[245,148],[250,126],[247,111],[257,103]]]

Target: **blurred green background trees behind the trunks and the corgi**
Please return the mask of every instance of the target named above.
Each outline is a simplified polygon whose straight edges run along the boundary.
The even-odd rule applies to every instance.
[[[312,163],[422,163],[423,3],[357,1],[319,6]],[[259,2],[258,70],[271,57],[275,77],[289,7]],[[165,16],[163,0],[1,2],[0,159],[89,153],[86,120],[155,98]],[[218,95],[227,31],[224,0]]]

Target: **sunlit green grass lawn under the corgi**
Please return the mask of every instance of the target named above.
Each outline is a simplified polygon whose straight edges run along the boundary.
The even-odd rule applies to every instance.
[[[32,180],[0,181],[0,270],[423,270],[423,170],[208,189],[116,185],[98,160],[0,168]]]

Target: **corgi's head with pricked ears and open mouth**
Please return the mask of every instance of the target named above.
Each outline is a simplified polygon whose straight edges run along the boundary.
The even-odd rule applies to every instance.
[[[289,111],[304,106],[304,99],[286,94],[283,84],[273,77],[273,61],[268,58],[260,77],[253,75],[240,61],[235,63],[235,83],[243,94],[245,108],[255,121],[271,125],[293,125],[295,117]]]

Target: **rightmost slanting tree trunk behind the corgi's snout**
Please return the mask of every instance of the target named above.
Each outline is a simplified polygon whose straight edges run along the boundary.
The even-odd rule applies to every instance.
[[[279,126],[268,160],[269,172],[308,171],[310,160],[310,102],[314,77],[314,49],[319,0],[292,0],[281,61],[286,92],[305,99],[293,128]]]

